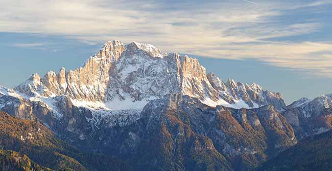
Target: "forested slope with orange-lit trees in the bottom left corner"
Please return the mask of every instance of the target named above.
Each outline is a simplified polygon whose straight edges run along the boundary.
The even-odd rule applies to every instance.
[[[0,112],[0,129],[0,156],[5,170],[7,166],[17,169],[22,167],[24,170],[47,170],[46,167],[55,170],[130,169],[112,157],[83,154],[74,146],[56,138],[42,124],[31,120],[18,119]]]

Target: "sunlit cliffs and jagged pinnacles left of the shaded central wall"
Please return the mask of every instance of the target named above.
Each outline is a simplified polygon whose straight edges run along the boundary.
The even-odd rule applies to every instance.
[[[42,78],[38,74],[33,74],[14,90],[28,96],[68,95],[77,100],[103,101],[109,82],[110,67],[124,50],[125,46],[121,41],[108,41],[82,67],[68,72],[61,68],[57,74],[50,71]]]

